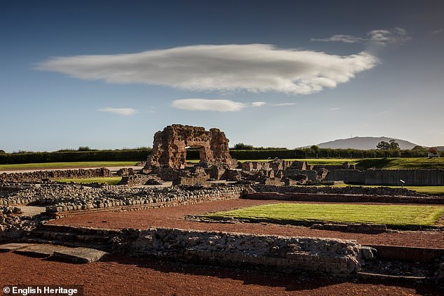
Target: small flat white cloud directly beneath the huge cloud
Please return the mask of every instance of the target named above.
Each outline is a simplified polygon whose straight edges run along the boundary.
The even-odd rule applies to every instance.
[[[173,101],[172,106],[188,111],[235,112],[241,111],[247,105],[228,99],[177,99]]]

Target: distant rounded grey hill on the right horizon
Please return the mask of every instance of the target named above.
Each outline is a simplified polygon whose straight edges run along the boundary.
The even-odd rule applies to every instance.
[[[329,141],[325,143],[318,144],[321,148],[353,148],[353,149],[361,149],[361,150],[369,150],[376,149],[376,146],[381,141],[390,141],[393,138],[387,138],[386,136],[355,136],[354,138],[349,139],[339,139],[335,141]],[[394,139],[396,143],[399,144],[399,148],[412,149],[417,146],[415,143],[411,143],[409,141]]]

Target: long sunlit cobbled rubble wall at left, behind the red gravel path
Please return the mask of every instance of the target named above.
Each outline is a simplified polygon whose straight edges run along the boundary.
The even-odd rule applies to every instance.
[[[13,185],[15,184],[15,185]],[[7,192],[2,193],[6,187]],[[15,190],[11,188],[15,187]],[[0,206],[34,202],[47,205],[48,212],[72,211],[111,206],[133,206],[159,202],[211,200],[219,197],[239,197],[242,185],[224,185],[213,188],[163,187],[130,188],[103,185],[97,188],[80,184],[20,184],[0,185]]]

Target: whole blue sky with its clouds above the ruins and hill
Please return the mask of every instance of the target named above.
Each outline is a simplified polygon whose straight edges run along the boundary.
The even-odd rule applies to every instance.
[[[443,1],[0,1],[0,149],[444,145]]]

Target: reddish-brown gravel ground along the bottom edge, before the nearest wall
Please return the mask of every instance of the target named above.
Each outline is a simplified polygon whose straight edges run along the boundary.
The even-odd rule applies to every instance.
[[[431,287],[353,283],[111,255],[73,265],[0,253],[0,287],[80,285],[84,295],[442,295]],[[6,294],[5,294],[6,295]]]

